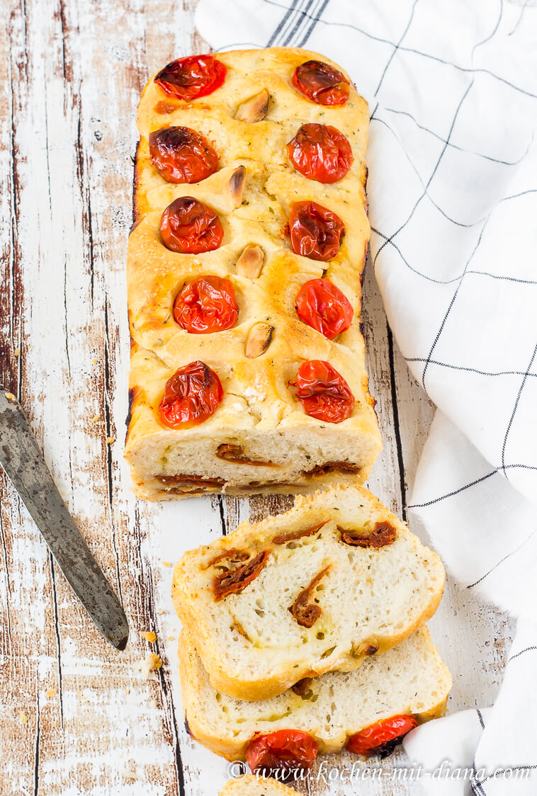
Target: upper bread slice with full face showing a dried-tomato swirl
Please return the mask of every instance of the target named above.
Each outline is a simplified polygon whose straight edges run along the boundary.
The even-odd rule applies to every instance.
[[[259,700],[389,650],[433,615],[444,580],[374,495],[335,486],[187,552],[172,598],[214,687]]]

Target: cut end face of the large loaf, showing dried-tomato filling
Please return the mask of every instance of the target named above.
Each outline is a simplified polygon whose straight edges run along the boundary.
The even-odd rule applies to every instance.
[[[222,433],[188,447],[163,432],[127,454],[141,497],[167,500],[196,494],[308,493],[336,482],[363,483],[377,440],[354,434]]]

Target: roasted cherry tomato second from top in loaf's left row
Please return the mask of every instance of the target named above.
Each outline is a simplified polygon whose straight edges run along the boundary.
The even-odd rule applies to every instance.
[[[199,182],[218,169],[218,154],[190,127],[163,127],[149,135],[151,163],[168,182]]]

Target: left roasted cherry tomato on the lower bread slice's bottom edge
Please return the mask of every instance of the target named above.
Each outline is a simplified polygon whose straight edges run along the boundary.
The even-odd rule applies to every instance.
[[[253,774],[292,776],[293,771],[311,768],[319,746],[308,732],[276,730],[250,742],[246,760]]]

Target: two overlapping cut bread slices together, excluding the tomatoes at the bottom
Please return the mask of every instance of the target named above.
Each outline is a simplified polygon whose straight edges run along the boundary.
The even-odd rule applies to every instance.
[[[444,581],[438,556],[352,485],[187,552],[172,598],[191,734],[237,760],[280,730],[334,752],[379,721],[442,715],[451,677],[425,622]]]

